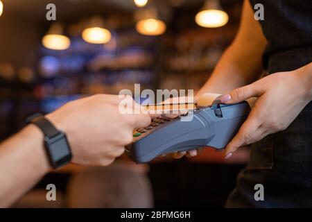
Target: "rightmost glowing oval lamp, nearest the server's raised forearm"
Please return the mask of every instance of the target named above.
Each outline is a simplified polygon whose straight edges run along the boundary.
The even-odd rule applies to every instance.
[[[195,21],[199,26],[216,28],[227,24],[229,16],[222,10],[202,10],[197,13]]]

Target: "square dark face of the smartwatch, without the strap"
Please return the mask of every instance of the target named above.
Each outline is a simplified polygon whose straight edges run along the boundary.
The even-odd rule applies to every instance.
[[[49,139],[45,138],[49,159],[54,168],[67,164],[71,160],[71,149],[64,133]]]

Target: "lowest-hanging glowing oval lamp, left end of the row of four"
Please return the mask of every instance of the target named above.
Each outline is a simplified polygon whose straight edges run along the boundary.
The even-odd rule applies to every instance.
[[[71,45],[71,40],[65,35],[45,35],[42,44],[48,49],[64,50]]]

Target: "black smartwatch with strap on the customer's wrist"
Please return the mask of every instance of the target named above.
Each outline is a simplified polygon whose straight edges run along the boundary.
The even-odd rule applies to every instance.
[[[28,117],[26,124],[35,124],[44,133],[44,147],[51,166],[56,169],[71,161],[71,148],[65,133],[58,130],[42,114]]]

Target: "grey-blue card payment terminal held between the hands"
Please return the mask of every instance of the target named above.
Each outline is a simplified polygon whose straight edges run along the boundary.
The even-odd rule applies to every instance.
[[[135,130],[126,153],[134,162],[144,163],[159,155],[202,146],[222,149],[238,132],[249,112],[247,101],[234,105],[214,101],[207,106],[197,104],[182,115],[157,117],[146,128]],[[193,116],[185,121],[187,115]]]

